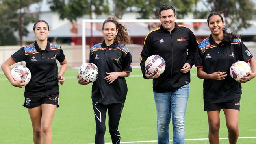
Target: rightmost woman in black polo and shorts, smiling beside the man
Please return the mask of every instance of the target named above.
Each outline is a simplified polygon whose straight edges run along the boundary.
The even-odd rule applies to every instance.
[[[211,35],[199,44],[195,66],[198,78],[204,79],[204,111],[208,115],[209,142],[219,144],[219,113],[223,109],[229,143],[236,144],[239,136],[241,83],[255,77],[256,60],[234,32],[226,32],[219,13],[210,13],[207,23]],[[236,61],[249,62],[252,68],[252,72],[248,72],[248,77],[242,78],[240,83],[229,74],[230,66]]]

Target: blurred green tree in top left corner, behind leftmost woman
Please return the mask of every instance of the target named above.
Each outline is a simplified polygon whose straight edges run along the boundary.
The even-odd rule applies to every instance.
[[[34,14],[29,13],[28,6],[41,0],[22,0],[22,34],[27,35],[26,26],[35,22]],[[14,33],[20,32],[19,0],[0,0],[0,45],[17,44]]]

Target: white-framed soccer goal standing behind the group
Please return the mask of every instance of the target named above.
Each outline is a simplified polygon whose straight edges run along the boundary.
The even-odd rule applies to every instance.
[[[101,33],[102,23],[105,19],[83,19],[82,20],[82,63],[88,61],[88,54],[86,54],[86,48],[90,48],[94,44],[100,43],[103,40],[103,35]],[[128,28],[129,36],[132,38],[133,45],[143,45],[144,39],[147,34],[158,28],[161,24],[158,19],[120,19],[123,25]],[[210,34],[207,28],[206,19],[177,19],[176,23],[184,25],[190,28],[196,36],[207,37]],[[91,34],[93,33],[93,34]],[[88,41],[89,40],[89,41]],[[91,43],[89,45],[88,43]],[[134,49],[135,50],[135,49]],[[132,52],[132,50],[130,50]],[[139,51],[139,50],[138,50]],[[138,52],[134,52],[137,55],[135,59],[137,60]],[[140,53],[140,52],[139,52]],[[87,55],[87,56],[86,56]],[[134,55],[133,59],[134,59]],[[139,61],[139,60],[138,60]]]

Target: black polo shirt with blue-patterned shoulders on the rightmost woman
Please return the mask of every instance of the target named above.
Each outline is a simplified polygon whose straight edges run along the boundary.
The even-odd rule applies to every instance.
[[[226,72],[224,80],[204,79],[204,100],[206,102],[226,102],[241,96],[241,83],[230,76],[230,66],[236,61],[248,62],[252,54],[240,39],[231,44],[217,44],[210,35],[199,44],[195,66],[203,67],[204,72]]]

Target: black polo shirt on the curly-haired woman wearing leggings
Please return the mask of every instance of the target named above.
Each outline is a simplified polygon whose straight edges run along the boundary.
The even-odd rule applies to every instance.
[[[127,85],[125,78],[118,77],[109,84],[106,72],[132,72],[132,55],[122,45],[107,46],[103,41],[90,50],[90,62],[98,66],[99,75],[92,86],[92,100],[102,103],[122,103],[126,99]]]

